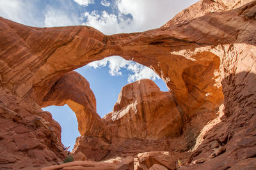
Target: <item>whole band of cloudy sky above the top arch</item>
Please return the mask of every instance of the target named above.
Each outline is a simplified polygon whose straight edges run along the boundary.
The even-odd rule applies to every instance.
[[[161,27],[176,13],[196,1],[198,0],[100,0],[95,4],[94,0],[55,0],[49,3],[43,0],[0,0],[0,16],[36,27],[83,24],[95,27],[105,34],[116,34]],[[77,10],[74,2],[80,5],[80,10]],[[90,4],[108,8],[95,11],[90,8]],[[85,6],[88,11],[81,10]]]

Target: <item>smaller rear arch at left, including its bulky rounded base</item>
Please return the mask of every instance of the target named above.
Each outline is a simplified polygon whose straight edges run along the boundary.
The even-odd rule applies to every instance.
[[[81,137],[74,146],[75,157],[84,153],[86,160],[101,160],[108,155],[110,143],[106,125],[96,112],[95,96],[86,79],[75,71],[63,74],[51,83],[49,92],[40,99],[34,97],[41,107],[67,104],[76,113],[78,130]],[[42,93],[39,89],[35,94]],[[40,101],[41,100],[41,101]],[[78,154],[78,155],[77,155]]]

